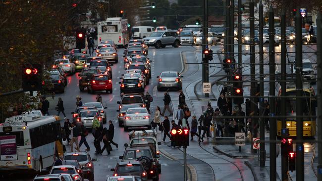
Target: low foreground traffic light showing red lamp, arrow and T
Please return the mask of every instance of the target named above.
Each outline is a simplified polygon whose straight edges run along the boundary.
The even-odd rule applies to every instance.
[[[189,146],[189,129],[172,129],[171,141],[173,141],[174,146]]]

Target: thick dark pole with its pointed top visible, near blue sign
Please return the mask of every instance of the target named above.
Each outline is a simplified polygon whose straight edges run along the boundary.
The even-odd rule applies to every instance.
[[[295,76],[296,76],[296,181],[304,181],[304,151],[303,151],[303,115],[302,98],[302,17],[298,10],[295,15]]]

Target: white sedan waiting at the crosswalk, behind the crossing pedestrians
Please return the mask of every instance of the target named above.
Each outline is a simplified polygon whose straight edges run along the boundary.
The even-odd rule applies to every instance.
[[[124,131],[128,131],[129,127],[148,127],[150,125],[150,114],[145,107],[129,108],[124,116]]]

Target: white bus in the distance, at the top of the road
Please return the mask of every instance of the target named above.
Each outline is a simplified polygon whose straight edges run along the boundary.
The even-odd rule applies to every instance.
[[[129,32],[127,31],[127,19],[121,17],[107,18],[106,21],[97,23],[99,43],[102,40],[113,40],[115,45],[122,47],[128,44]]]

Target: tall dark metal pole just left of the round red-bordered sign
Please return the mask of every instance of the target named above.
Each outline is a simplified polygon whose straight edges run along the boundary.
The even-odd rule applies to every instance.
[[[255,80],[255,24],[254,24],[254,0],[250,0],[249,2],[249,29],[250,29],[250,40],[251,40],[251,45],[250,45],[250,51],[251,51],[251,56],[250,56],[250,63],[251,63],[251,96],[255,96],[256,94],[256,80]],[[255,103],[255,97],[251,97],[251,115],[255,116],[257,115],[257,104]],[[256,119],[252,118],[252,137],[257,136],[257,129],[254,129],[256,125]],[[252,146],[252,145],[251,145]],[[253,146],[252,146],[253,148]],[[252,149],[252,153],[256,153],[257,150]]]

